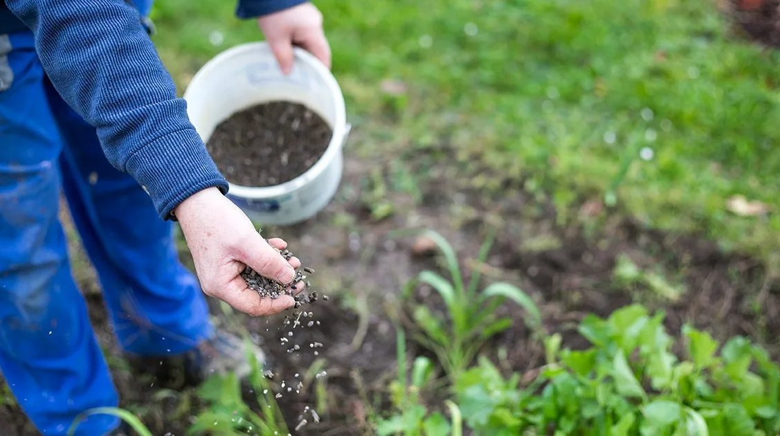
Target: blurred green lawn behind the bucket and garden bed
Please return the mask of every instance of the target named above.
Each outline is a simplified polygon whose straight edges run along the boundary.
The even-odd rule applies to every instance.
[[[447,143],[463,162],[527,177],[562,210],[614,200],[780,273],[780,52],[732,37],[714,0],[316,4],[350,118],[373,144],[353,152]],[[181,87],[218,51],[261,38],[233,7],[159,0],[155,41]],[[383,80],[406,95],[383,95]],[[731,214],[736,194],[774,213]]]

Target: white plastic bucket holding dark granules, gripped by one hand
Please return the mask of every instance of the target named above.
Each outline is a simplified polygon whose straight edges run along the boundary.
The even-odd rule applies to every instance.
[[[301,222],[332,200],[341,182],[342,147],[350,127],[339,83],[319,59],[296,48],[293,71],[284,76],[267,43],[242,44],[207,62],[193,76],[184,98],[190,120],[204,141],[230,115],[266,101],[293,101],[321,115],[333,136],[307,172],[275,186],[230,183],[228,197],[264,225]]]

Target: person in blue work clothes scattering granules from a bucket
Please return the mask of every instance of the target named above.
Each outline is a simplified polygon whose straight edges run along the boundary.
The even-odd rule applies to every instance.
[[[62,194],[128,356],[185,362],[200,376],[245,370],[241,342],[210,323],[204,294],[254,316],[294,303],[261,299],[239,275],[248,265],[291,284],[300,261],[285,261],[285,241],[264,239],[225,197],[149,37],[150,9],[151,0],[0,2],[0,369],[43,434],[118,403],[69,268]],[[285,73],[293,45],[330,66],[310,2],[239,0],[236,16],[257,18]],[[179,263],[174,222],[197,278]],[[95,415],[76,434],[118,426]]]

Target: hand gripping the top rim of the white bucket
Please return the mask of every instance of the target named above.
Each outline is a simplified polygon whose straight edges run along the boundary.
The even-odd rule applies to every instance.
[[[322,30],[322,13],[317,6],[303,3],[257,19],[282,73],[293,69],[293,44],[300,45],[331,67],[331,48]]]

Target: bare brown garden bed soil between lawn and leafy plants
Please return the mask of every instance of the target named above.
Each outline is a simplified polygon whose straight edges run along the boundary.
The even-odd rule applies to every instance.
[[[719,340],[750,336],[763,342],[773,356],[780,356],[780,346],[771,335],[780,328],[777,285],[766,282],[761,266],[749,257],[722,253],[695,236],[642,229],[608,213],[597,201],[583,202],[575,211],[580,218],[562,227],[551,204],[523,190],[522,183],[509,181],[502,192],[510,195],[483,197],[483,192],[459,179],[434,177],[420,186],[421,204],[417,206],[405,193],[388,193],[395,211],[377,220],[360,189],[367,186],[369,178],[376,183],[371,173],[377,165],[381,164],[350,159],[341,194],[323,214],[290,228],[264,229],[264,234],[281,236],[291,247],[306,247],[304,263],[317,269],[316,277],[311,278],[313,285],[332,296],[328,302],[317,301],[311,306],[312,320],[321,321],[321,325],[296,332],[298,343],[324,344],[319,356],[289,353],[289,346],[278,342],[281,315],[218,315],[229,328],[243,326],[257,342],[266,344],[278,371],[276,381],[294,379],[296,373],[304,374],[311,368],[327,372],[324,398],[320,395],[318,399],[317,382],[312,379],[300,395],[285,393],[278,399],[290,428],[299,424],[298,416],[306,406],[314,407],[317,401],[327,405],[327,409],[317,410],[319,424],[307,424],[296,434],[361,434],[373,419],[372,413],[385,413],[383,409],[388,408],[387,386],[396,377],[397,368],[391,315],[398,313],[399,292],[423,269],[439,270],[432,247],[416,236],[399,234],[399,229],[435,229],[456,247],[464,271],[479,268],[484,282],[501,280],[519,285],[540,307],[544,328],[562,333],[565,346],[586,345],[576,332],[576,324],[586,314],[606,316],[634,301],[666,310],[669,331],[679,332],[689,321]],[[449,165],[458,166],[456,162]],[[381,179],[388,181],[388,168],[382,170]],[[480,246],[488,228],[497,229],[496,242],[487,261],[475,263],[475,247]],[[666,285],[685,290],[676,300],[669,300],[667,294],[640,278],[620,282],[616,265],[622,262],[625,267],[627,260],[644,274],[658,274]],[[122,404],[140,413],[154,434],[183,434],[197,413],[196,395],[160,391],[154,381],[138,378],[122,367],[121,360],[115,358],[118,352],[96,285],[89,275],[82,275],[82,280],[93,324],[101,342],[112,350],[110,361]],[[417,289],[414,300],[431,310],[442,310],[435,292],[424,287]],[[219,313],[216,305],[215,313]],[[502,362],[506,371],[533,375],[544,363],[544,349],[531,339],[522,322],[527,314],[509,304],[499,308],[498,314],[509,314],[516,322],[489,342],[484,352]],[[409,346],[410,356],[426,354],[413,342]],[[506,353],[498,359],[501,348]],[[155,395],[163,407],[148,402],[157,398]],[[181,409],[185,401],[189,409]],[[12,406],[0,409],[0,420],[8,423],[8,428],[25,428],[25,419]]]

